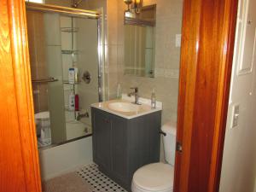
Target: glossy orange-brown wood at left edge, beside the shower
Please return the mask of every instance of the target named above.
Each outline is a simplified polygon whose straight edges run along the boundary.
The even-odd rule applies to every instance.
[[[25,3],[0,1],[0,191],[41,192]]]

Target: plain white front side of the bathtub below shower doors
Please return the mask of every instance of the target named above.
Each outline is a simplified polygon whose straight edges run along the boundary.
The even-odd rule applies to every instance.
[[[55,148],[39,150],[42,180],[72,172],[92,163],[92,139],[86,137]]]

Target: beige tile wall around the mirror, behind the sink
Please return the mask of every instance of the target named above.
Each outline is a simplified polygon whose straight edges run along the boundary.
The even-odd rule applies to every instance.
[[[155,29],[155,78],[124,75],[124,10],[125,3],[108,1],[109,97],[116,96],[118,84],[124,93],[137,86],[139,95],[150,98],[153,89],[157,100],[163,102],[162,122],[177,120],[177,92],[180,47],[176,34],[181,33],[182,0],[144,0],[144,5],[157,4]]]

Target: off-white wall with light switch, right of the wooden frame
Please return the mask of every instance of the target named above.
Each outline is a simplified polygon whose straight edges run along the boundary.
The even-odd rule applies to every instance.
[[[220,192],[253,192],[255,183],[255,7],[256,0],[240,1]],[[253,20],[251,25],[247,20]],[[231,129],[232,109],[236,104],[240,106],[239,120]]]

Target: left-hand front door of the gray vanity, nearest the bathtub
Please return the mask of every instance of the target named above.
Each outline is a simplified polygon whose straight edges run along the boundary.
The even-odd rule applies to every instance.
[[[111,121],[108,113],[93,110],[93,145],[96,164],[109,170],[111,167]]]

